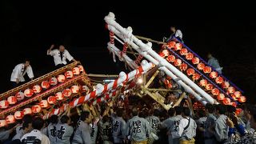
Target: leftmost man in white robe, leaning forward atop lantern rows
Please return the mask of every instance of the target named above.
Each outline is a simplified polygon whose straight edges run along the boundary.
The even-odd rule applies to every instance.
[[[29,60],[26,60],[25,62],[14,67],[14,70],[10,76],[10,82],[12,82],[14,86],[21,85],[21,82],[25,82],[25,78],[23,77],[25,74],[27,74],[29,78],[33,80],[34,73],[32,67],[30,66]]]

